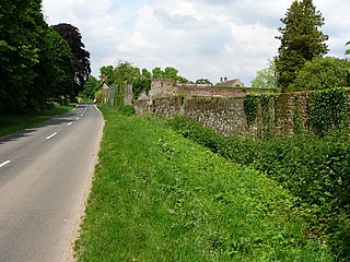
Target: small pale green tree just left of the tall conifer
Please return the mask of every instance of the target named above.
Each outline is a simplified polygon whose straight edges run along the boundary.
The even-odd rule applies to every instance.
[[[256,72],[256,78],[252,81],[253,88],[277,87],[276,66],[273,60],[268,61],[266,69]]]

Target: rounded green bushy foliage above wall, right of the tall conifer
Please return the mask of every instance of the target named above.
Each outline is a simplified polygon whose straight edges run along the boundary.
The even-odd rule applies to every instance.
[[[316,57],[298,72],[292,91],[316,91],[350,86],[350,61]]]

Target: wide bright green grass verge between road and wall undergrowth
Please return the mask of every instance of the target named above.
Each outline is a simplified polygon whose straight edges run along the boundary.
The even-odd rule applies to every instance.
[[[272,180],[152,118],[101,109],[78,261],[332,261]]]

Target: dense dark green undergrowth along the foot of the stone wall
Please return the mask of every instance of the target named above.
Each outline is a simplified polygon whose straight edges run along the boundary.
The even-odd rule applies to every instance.
[[[308,222],[310,235],[329,245],[338,261],[350,253],[350,139],[348,132],[253,141],[225,138],[176,117],[170,124],[185,138],[235,163],[264,171],[290,190]]]

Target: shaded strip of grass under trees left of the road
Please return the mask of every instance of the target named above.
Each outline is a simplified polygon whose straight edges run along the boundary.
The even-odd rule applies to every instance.
[[[0,138],[44,122],[49,117],[66,114],[73,107],[73,104],[63,107],[56,105],[54,108],[44,109],[40,112],[27,112],[25,115],[9,116],[0,115]]]

